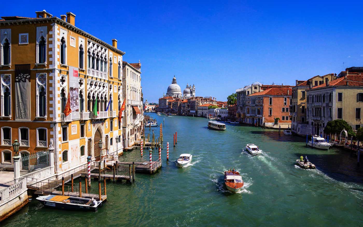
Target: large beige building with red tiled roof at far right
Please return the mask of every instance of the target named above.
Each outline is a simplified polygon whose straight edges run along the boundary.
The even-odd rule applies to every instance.
[[[343,119],[354,130],[362,126],[363,109],[363,67],[339,73],[333,81],[325,78],[325,83],[306,90],[306,117],[312,134],[323,134],[327,122]],[[358,71],[358,72],[354,72]]]

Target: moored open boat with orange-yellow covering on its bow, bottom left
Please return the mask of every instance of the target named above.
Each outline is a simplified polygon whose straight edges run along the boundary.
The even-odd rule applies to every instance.
[[[44,206],[62,210],[97,211],[102,200],[64,195],[43,195],[36,198]]]

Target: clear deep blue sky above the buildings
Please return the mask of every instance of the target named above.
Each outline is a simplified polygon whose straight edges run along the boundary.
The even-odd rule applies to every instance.
[[[144,100],[157,102],[176,76],[181,89],[227,100],[254,81],[290,84],[363,66],[362,1],[23,2],[0,16],[45,9],[76,14],[76,26],[142,64]],[[112,3],[112,4],[111,4]],[[21,5],[21,7],[18,7]],[[36,6],[37,5],[37,6]]]

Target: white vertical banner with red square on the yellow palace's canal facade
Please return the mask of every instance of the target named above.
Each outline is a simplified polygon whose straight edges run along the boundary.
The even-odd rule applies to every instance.
[[[72,119],[79,118],[78,68],[69,66],[69,97]]]

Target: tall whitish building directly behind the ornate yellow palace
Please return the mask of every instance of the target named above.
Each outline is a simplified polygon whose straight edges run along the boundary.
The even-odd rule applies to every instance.
[[[122,62],[122,99],[126,99],[126,109],[122,122],[123,147],[132,147],[141,139],[143,128],[143,102],[141,99],[141,63]],[[121,102],[119,102],[121,105]],[[121,106],[119,106],[121,108]],[[121,127],[119,127],[121,129]],[[120,135],[121,139],[121,135]],[[110,145],[115,141],[110,141]]]

